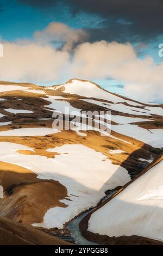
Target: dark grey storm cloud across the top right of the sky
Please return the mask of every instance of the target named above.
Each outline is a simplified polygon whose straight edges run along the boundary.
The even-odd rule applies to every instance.
[[[59,0],[18,0],[38,8]],[[94,40],[148,41],[163,34],[163,0],[62,0],[72,14],[80,11],[104,18],[99,29],[87,29]]]

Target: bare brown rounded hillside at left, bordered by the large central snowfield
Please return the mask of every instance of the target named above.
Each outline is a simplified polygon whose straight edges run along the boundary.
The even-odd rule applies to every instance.
[[[30,170],[15,164],[0,162],[3,198],[0,215],[21,223],[40,223],[47,209],[65,207],[60,199],[67,190],[58,181],[38,179]]]

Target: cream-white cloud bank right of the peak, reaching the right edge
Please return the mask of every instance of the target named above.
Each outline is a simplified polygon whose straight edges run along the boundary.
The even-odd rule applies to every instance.
[[[125,84],[126,94],[135,99],[163,99],[163,63],[157,65],[149,56],[139,59],[131,44],[85,42],[74,53],[73,73],[80,78],[120,80]]]

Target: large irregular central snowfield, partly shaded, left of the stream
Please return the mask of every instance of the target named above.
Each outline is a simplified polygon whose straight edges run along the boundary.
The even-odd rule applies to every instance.
[[[23,155],[17,150],[33,150],[24,145],[0,142],[0,161],[18,164],[36,173],[37,178],[58,180],[67,188],[71,200],[62,200],[66,208],[49,209],[43,223],[46,228],[62,228],[80,212],[95,206],[108,189],[122,186],[130,180],[126,169],[83,144],[65,144],[47,151],[57,152],[54,159],[39,155]],[[41,195],[40,195],[41,197]]]

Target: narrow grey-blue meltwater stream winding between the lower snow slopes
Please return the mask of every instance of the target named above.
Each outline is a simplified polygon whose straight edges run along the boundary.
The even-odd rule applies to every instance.
[[[117,190],[110,191],[109,194],[107,194],[103,199],[102,202],[104,202],[106,199],[112,196]],[[96,208],[96,207],[95,207]],[[70,221],[67,224],[67,229],[70,230],[71,236],[74,239],[76,245],[98,245],[96,242],[91,242],[87,240],[80,232],[79,223],[82,221],[82,219],[89,214],[89,212],[93,211],[95,208],[91,210],[85,211],[83,214],[79,215],[78,217],[74,218],[74,220]]]

